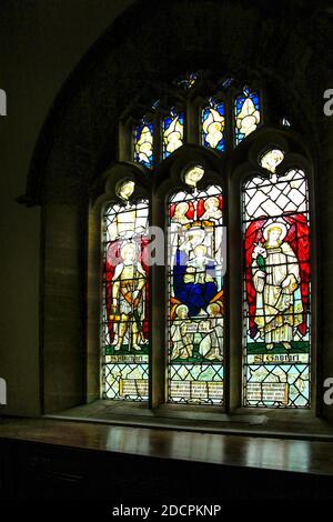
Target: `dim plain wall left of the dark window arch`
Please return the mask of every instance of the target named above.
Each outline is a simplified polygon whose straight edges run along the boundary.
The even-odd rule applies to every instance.
[[[133,0],[1,0],[0,88],[0,377],[8,405],[38,414],[40,207],[26,192],[33,148],[51,104],[94,40]]]

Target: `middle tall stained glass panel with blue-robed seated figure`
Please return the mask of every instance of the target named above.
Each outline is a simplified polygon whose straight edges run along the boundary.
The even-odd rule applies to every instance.
[[[196,175],[198,168],[188,180]],[[222,209],[218,185],[194,187],[169,201],[170,402],[223,402]]]

